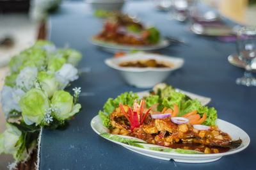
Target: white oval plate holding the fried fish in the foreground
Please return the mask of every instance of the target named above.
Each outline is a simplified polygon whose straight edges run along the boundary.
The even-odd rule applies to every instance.
[[[241,146],[234,150],[227,151],[225,153],[212,153],[212,154],[184,154],[184,153],[176,153],[176,152],[164,152],[164,151],[156,151],[156,150],[148,150],[145,148],[139,148],[136,146],[131,146],[129,144],[120,143],[118,141],[114,141],[111,139],[108,139],[104,137],[105,139],[108,139],[109,141],[120,144],[121,146],[124,146],[125,148],[134,151],[136,153],[140,153],[142,155],[146,155],[148,157],[153,158],[159,158],[163,160],[170,160],[173,159],[175,162],[186,162],[186,163],[205,163],[205,162],[213,162],[215,160],[220,159],[221,157],[225,155],[230,155],[233,153],[237,153],[239,151],[244,150],[250,143],[250,137],[246,132],[244,132],[241,128],[236,127],[235,125],[228,123],[227,121],[223,120],[216,120],[216,125],[220,128],[220,130],[223,130],[223,132],[227,132],[232,139],[242,139],[243,143]],[[97,134],[102,134],[104,132],[108,132],[108,128],[104,127],[101,124],[101,119],[99,115],[95,116],[91,121],[91,127]],[[120,135],[121,137],[124,137]],[[133,137],[128,137],[128,139],[134,139]]]

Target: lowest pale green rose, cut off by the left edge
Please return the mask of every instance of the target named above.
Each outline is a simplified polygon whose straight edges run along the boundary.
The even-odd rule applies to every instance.
[[[2,152],[12,154],[15,158],[21,145],[21,143],[17,144],[17,142],[19,141],[22,133],[17,127],[10,123],[6,123],[6,127],[7,129],[0,135],[0,154]]]

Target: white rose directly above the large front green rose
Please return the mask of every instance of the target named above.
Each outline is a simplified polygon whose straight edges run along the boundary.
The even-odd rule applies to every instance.
[[[16,85],[24,91],[28,91],[29,89],[33,88],[36,75],[37,68],[35,66],[27,66],[20,70],[19,75],[17,75]]]

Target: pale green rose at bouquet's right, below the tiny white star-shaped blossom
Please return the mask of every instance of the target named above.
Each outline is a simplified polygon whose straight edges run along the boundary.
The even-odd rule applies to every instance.
[[[81,109],[81,104],[73,104],[73,97],[67,91],[56,91],[51,101],[52,105],[59,109],[59,112],[56,112],[56,118],[58,120],[66,120],[74,116]]]

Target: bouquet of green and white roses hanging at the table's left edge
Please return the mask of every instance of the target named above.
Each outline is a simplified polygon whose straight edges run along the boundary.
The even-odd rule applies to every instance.
[[[64,91],[78,79],[81,57],[76,50],[38,41],[11,59],[1,91],[7,129],[0,134],[0,153],[13,155],[13,166],[28,160],[41,128],[63,128],[81,109],[76,103],[81,88],[74,88],[73,96]]]

